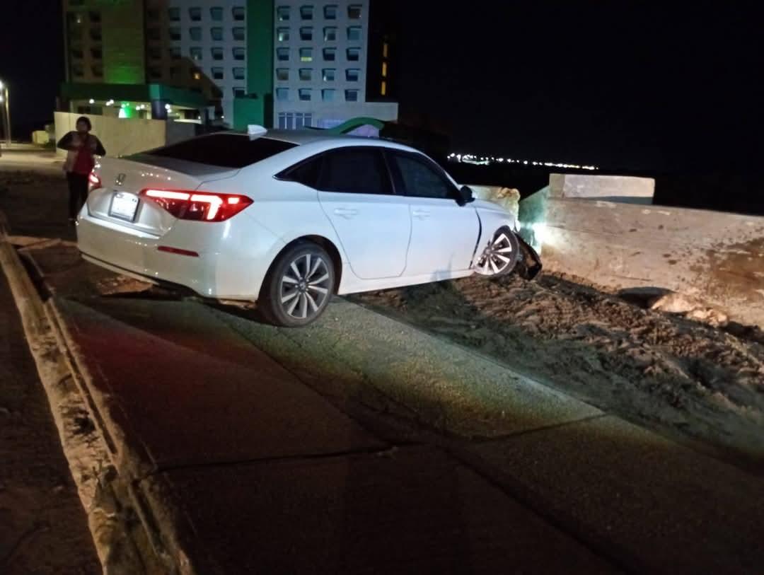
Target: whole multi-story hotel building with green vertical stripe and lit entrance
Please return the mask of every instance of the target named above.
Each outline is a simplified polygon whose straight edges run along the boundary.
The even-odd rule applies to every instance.
[[[280,128],[397,118],[384,0],[63,0],[63,10],[70,111]]]

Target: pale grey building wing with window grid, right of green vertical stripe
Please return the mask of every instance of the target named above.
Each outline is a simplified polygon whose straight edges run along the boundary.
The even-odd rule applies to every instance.
[[[276,0],[274,125],[332,128],[358,116],[397,118],[390,37],[370,34],[374,17],[387,19],[380,5],[379,13],[374,8],[370,0]],[[377,77],[379,83],[367,82]]]

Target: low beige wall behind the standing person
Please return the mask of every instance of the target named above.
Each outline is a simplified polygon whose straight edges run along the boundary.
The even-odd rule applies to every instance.
[[[56,141],[66,132],[75,129],[79,116],[63,111],[55,113]],[[195,132],[194,124],[96,115],[89,115],[88,118],[92,124],[92,133],[99,137],[108,156],[151,150],[166,144],[168,136],[171,141],[179,141],[193,137]],[[63,155],[65,152],[59,150],[59,153]]]

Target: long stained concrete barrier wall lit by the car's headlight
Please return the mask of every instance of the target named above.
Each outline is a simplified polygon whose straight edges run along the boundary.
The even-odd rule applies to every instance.
[[[545,204],[535,227],[545,269],[611,288],[671,289],[764,327],[764,218],[587,199]]]

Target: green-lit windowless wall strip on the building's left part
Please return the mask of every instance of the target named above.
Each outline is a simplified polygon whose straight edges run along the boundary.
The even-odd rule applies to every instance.
[[[144,83],[144,3],[142,0],[97,3],[102,18],[103,81],[107,84]]]

